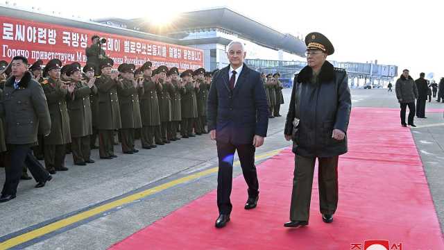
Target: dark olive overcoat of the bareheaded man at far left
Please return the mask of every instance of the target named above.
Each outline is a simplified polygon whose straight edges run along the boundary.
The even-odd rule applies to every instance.
[[[15,77],[6,81],[1,95],[0,114],[4,117],[7,144],[36,144],[37,131],[51,131],[48,104],[42,86],[26,72],[14,89]],[[7,132],[6,132],[7,131]]]

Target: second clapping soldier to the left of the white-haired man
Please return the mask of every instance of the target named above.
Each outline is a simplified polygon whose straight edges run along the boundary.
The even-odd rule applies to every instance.
[[[182,138],[195,137],[193,134],[193,124],[198,117],[197,115],[197,99],[196,99],[196,84],[193,83],[193,71],[191,69],[185,70],[180,74],[180,78],[185,84],[184,94],[182,94],[182,123],[180,124],[180,133]]]

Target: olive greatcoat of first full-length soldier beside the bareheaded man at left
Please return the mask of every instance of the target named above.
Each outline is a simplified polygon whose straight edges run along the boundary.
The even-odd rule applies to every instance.
[[[61,145],[71,142],[71,129],[67,108],[67,99],[71,98],[67,89],[62,89],[60,80],[48,78],[42,83],[42,88],[48,102],[51,115],[51,133],[44,138],[48,145]]]

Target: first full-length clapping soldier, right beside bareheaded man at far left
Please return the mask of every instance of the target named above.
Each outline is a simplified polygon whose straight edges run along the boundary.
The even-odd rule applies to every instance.
[[[50,60],[44,68],[44,74],[49,78],[42,83],[51,114],[51,133],[44,138],[44,163],[51,174],[68,170],[65,167],[65,144],[71,143],[66,100],[71,98],[74,86],[60,80],[61,65],[58,59]]]

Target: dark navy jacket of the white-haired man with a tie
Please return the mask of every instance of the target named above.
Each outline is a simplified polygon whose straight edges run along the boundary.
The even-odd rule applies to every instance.
[[[261,74],[244,67],[230,90],[230,65],[214,74],[207,101],[208,130],[218,142],[251,144],[254,135],[266,137],[268,103]]]

